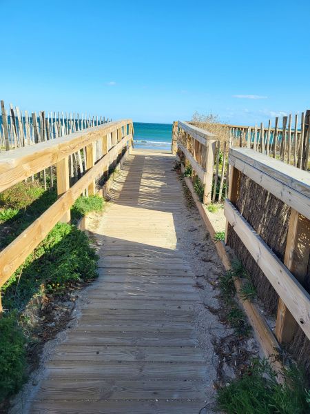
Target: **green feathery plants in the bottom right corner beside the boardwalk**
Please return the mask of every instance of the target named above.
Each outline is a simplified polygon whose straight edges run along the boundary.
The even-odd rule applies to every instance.
[[[265,359],[254,359],[242,377],[218,390],[218,408],[228,414],[309,413],[310,391],[296,366],[283,371],[282,384],[276,378]]]

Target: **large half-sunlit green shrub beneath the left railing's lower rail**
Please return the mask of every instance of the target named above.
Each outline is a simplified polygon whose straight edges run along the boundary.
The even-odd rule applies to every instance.
[[[72,282],[96,277],[97,256],[87,235],[75,226],[59,223],[3,285],[3,306],[23,309],[43,284],[62,293]]]

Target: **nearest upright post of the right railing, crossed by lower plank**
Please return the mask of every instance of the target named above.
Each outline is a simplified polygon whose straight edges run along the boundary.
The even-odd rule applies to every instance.
[[[292,208],[284,264],[291,270],[291,273],[293,273],[300,284],[307,277],[309,254],[310,221]],[[293,339],[296,326],[296,320],[279,297],[275,330],[278,341],[282,343],[290,342]]]

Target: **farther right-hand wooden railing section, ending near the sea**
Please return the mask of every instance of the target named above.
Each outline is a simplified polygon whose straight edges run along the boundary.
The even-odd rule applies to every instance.
[[[194,172],[203,183],[203,202],[211,201],[214,177],[214,156],[216,140],[206,130],[192,126],[184,121],[174,122],[172,129],[172,152],[180,150],[185,155]]]

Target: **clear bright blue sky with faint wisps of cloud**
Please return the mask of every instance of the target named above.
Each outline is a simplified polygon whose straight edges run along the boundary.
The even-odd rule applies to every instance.
[[[310,1],[0,0],[0,98],[21,109],[254,124],[310,108]]]

